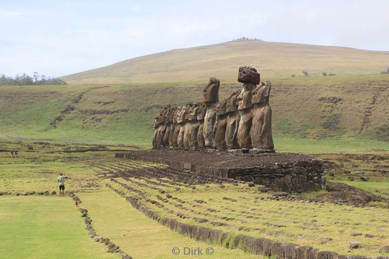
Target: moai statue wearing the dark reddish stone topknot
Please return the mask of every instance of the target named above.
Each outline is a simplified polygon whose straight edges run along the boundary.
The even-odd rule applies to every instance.
[[[237,97],[240,121],[238,127],[238,144],[240,148],[251,148],[250,129],[252,122],[251,96],[252,90],[259,84],[260,75],[257,69],[240,67],[238,82],[243,83],[243,89]]]

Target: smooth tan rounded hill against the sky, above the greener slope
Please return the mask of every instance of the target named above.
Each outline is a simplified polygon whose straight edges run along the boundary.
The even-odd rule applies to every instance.
[[[294,43],[245,41],[177,49],[124,60],[61,77],[69,84],[198,82],[211,76],[235,82],[239,66],[266,77],[302,74],[376,74],[389,66],[389,52]]]

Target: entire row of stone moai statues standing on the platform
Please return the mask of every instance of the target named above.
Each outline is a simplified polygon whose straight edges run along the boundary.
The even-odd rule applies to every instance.
[[[220,81],[211,78],[202,103],[166,106],[156,117],[153,148],[252,149],[274,152],[271,132],[271,83],[260,82],[251,67],[240,67],[235,91],[219,102]]]

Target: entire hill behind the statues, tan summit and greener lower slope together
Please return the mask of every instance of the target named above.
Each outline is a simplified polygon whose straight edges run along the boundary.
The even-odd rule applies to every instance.
[[[162,52],[62,77],[67,86],[0,86],[0,138],[149,148],[159,109],[201,101],[210,76],[223,99],[251,65],[272,81],[277,151],[389,150],[388,64],[389,52],[260,41]]]

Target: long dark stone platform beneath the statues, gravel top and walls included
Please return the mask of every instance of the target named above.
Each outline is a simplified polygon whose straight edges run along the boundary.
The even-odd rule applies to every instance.
[[[273,190],[324,190],[322,160],[299,154],[230,154],[218,151],[149,150],[117,153],[115,157],[165,164],[214,177],[265,185]]]

